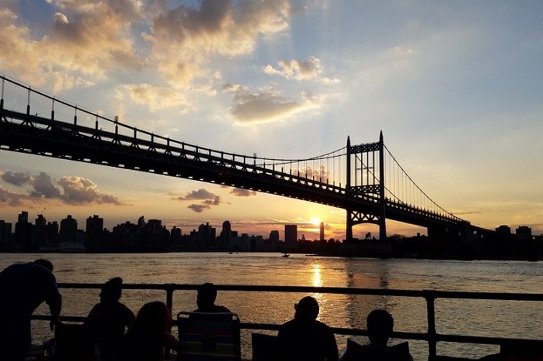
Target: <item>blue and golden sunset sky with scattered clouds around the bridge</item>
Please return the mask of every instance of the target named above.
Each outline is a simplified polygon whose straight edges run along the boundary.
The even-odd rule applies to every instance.
[[[306,158],[382,130],[447,211],[540,234],[542,17],[540,1],[0,0],[0,73],[228,152]],[[313,239],[324,222],[327,238],[345,235],[342,209],[2,150],[0,219],[21,210],[81,229],[93,214],[109,229],[144,215],[183,233],[230,220],[240,233],[295,223]]]

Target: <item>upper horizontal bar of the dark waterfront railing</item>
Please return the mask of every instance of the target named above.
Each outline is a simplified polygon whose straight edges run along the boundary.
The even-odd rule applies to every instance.
[[[59,283],[61,288],[99,289],[103,283]],[[187,283],[124,283],[123,289],[173,289],[176,291],[196,291],[201,285]],[[267,285],[216,285],[218,291],[243,292],[292,292],[292,293],[332,293],[355,295],[383,295],[421,298],[457,298],[507,301],[543,301],[539,293],[503,293],[503,292],[465,292],[433,291],[410,289],[376,289],[350,287],[311,287],[311,286],[267,286]]]

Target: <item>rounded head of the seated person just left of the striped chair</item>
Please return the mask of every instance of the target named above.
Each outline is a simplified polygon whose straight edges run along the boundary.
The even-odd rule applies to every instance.
[[[153,338],[163,337],[168,332],[171,320],[171,312],[164,302],[149,302],[140,308],[130,330]]]

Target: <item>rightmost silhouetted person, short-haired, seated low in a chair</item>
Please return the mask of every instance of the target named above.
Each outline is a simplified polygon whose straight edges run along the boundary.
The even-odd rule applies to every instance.
[[[370,343],[358,345],[349,340],[347,352],[342,357],[342,361],[360,359],[367,361],[413,361],[407,342],[395,346],[387,345],[394,328],[394,319],[390,313],[385,310],[371,311],[366,319],[366,327]],[[350,349],[351,342],[352,350]]]

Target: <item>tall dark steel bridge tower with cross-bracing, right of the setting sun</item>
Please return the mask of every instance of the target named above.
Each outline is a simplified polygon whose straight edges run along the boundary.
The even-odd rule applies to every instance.
[[[355,197],[370,196],[378,199],[376,211],[346,209],[346,240],[352,240],[352,226],[361,223],[378,224],[379,240],[386,240],[383,132],[379,134],[376,143],[351,145],[351,139],[347,137],[346,153],[346,190]]]

